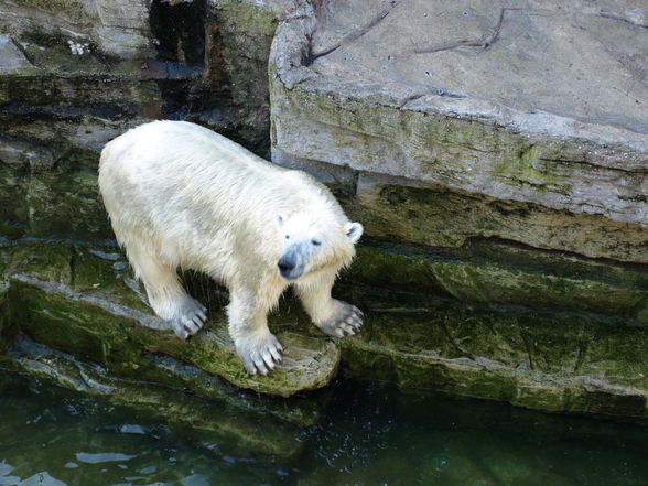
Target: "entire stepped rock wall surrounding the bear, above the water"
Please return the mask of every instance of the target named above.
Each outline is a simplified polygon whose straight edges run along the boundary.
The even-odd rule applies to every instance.
[[[207,395],[212,374],[318,388],[342,353],[407,387],[646,415],[646,19],[637,0],[0,0],[0,347],[22,330]],[[336,289],[361,336],[326,341],[289,305],[267,380],[226,339],[226,298],[194,342],[159,328],[117,249],[84,249],[111,237],[98,151],[154,118],[261,154],[271,136],[276,163],[332,187],[368,235]]]

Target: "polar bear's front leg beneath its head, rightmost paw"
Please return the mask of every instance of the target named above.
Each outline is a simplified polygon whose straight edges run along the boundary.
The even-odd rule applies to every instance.
[[[323,333],[334,337],[353,335],[363,326],[363,312],[331,296],[335,272],[295,284],[304,309]]]

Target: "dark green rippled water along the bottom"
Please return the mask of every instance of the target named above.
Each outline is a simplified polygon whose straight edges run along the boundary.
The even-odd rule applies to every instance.
[[[315,425],[287,430],[301,452],[263,458],[224,435],[196,439],[161,415],[0,372],[0,486],[648,484],[646,425],[380,384],[338,381]]]

